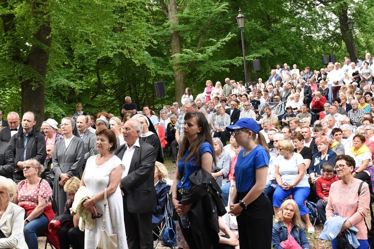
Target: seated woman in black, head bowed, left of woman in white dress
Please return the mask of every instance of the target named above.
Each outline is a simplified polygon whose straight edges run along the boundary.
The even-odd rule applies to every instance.
[[[70,215],[70,208],[74,202],[75,193],[79,189],[80,180],[73,176],[64,186],[64,191],[69,196],[69,199],[66,201],[64,214]],[[79,214],[74,215],[71,218],[72,223],[61,227],[58,230],[58,241],[60,242],[60,249],[69,249],[70,245],[73,249],[84,248],[84,232],[80,231],[78,228],[79,223]]]

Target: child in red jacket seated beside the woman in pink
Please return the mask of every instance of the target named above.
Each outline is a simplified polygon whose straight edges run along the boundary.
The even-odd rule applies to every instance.
[[[317,179],[316,192],[319,199],[317,203],[317,211],[320,215],[322,224],[326,222],[326,205],[329,199],[330,187],[333,182],[339,181],[334,174],[334,165],[331,162],[325,162],[322,165],[322,176]]]

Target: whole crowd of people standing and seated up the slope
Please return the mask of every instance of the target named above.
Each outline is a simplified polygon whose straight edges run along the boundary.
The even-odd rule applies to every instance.
[[[56,248],[96,248],[104,216],[118,248],[150,249],[170,191],[181,248],[310,248],[306,201],[333,248],[369,248],[374,66],[370,54],[343,64],[277,65],[250,85],[207,80],[195,99],[187,88],[181,107],[159,113],[131,97],[121,117],[90,116],[79,103],[41,127],[32,112],[0,113],[0,247],[37,248],[45,233]],[[284,102],[284,114],[261,116],[268,102]]]

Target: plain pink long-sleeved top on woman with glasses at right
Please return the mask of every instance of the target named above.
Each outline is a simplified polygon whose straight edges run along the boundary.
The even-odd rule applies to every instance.
[[[367,240],[368,230],[364,219],[369,210],[370,192],[369,185],[364,182],[359,196],[361,182],[354,178],[354,182],[350,184],[343,184],[343,181],[339,180],[331,185],[326,218],[333,217],[334,212],[337,212],[340,217],[349,218],[351,224],[359,230],[356,235],[357,239]]]

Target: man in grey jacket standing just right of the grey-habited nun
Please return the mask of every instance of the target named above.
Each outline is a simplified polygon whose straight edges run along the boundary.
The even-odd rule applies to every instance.
[[[88,116],[78,116],[76,124],[80,138],[84,142],[84,163],[86,163],[88,157],[98,154],[96,151],[96,135],[87,129],[89,125]]]

